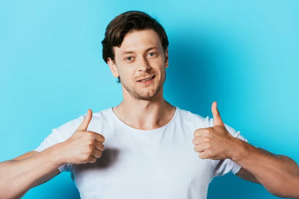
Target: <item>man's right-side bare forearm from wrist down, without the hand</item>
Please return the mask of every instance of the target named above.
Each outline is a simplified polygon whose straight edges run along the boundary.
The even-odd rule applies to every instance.
[[[240,139],[235,151],[232,160],[253,174],[271,194],[299,198],[299,167],[294,160],[259,150]]]

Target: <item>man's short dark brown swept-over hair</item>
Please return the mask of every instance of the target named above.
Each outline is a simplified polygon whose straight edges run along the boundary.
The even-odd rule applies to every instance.
[[[128,33],[145,29],[153,29],[159,35],[165,52],[169,42],[163,26],[146,12],[132,10],[116,16],[106,27],[102,41],[104,61],[107,63],[108,58],[114,61],[113,47],[120,46]],[[120,83],[120,77],[118,79]]]

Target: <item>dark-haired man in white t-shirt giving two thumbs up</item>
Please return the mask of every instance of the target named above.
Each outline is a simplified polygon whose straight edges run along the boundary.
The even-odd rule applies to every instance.
[[[122,13],[102,44],[124,100],[89,109],[35,150],[0,163],[1,199],[20,198],[63,171],[82,199],[205,199],[211,180],[228,172],[273,195],[299,198],[296,162],[250,145],[223,123],[216,102],[213,118],[203,118],[163,99],[168,39],[155,19]]]

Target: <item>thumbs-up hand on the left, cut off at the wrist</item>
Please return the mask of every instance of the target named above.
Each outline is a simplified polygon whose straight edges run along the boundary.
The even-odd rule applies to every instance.
[[[87,115],[73,133],[63,144],[63,158],[69,164],[94,163],[102,156],[105,138],[103,135],[87,131],[92,118],[92,110],[88,109]]]

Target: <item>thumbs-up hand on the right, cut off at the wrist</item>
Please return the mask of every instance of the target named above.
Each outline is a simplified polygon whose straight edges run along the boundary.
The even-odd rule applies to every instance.
[[[201,159],[223,160],[231,158],[234,153],[236,138],[225,128],[217,109],[217,102],[212,104],[213,127],[199,128],[193,132],[194,151]]]

